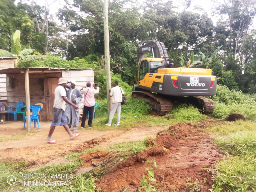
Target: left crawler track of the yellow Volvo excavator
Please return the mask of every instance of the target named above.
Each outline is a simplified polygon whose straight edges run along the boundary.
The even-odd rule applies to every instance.
[[[147,101],[160,116],[166,115],[173,109],[172,101],[165,99],[161,96],[159,97],[159,95],[155,93],[150,93],[146,91],[134,91],[132,92],[132,97],[140,98]]]

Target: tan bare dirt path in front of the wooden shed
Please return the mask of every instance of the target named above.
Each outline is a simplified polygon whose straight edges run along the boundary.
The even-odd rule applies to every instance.
[[[18,140],[1,142],[0,161],[18,159],[39,165],[61,163],[66,162],[64,158],[66,154],[82,152],[99,144],[101,147],[107,148],[115,143],[143,140],[147,136],[155,137],[155,133],[163,129],[163,127],[138,127],[129,131],[97,131],[83,130],[78,127],[76,133],[80,133],[80,135],[71,141],[63,127],[56,127],[52,139],[57,140],[58,143],[47,144],[46,137],[50,124],[49,121],[40,122],[39,130],[32,128],[32,133],[21,136]],[[23,122],[20,121],[0,125],[0,136],[11,138],[13,135],[22,135],[25,132]]]

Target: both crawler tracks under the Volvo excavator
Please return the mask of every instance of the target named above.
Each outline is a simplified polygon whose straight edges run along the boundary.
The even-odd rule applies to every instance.
[[[146,91],[134,91],[132,92],[132,98],[140,98],[147,101],[158,115],[166,115],[172,111],[172,101],[180,101],[195,105],[203,114],[211,114],[215,109],[215,104],[211,99],[205,97],[170,97],[161,94],[155,94]]]

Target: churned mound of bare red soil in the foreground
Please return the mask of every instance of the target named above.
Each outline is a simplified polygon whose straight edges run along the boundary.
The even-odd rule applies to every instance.
[[[153,167],[146,160],[156,161],[158,168],[153,169],[156,182],[150,183],[163,187],[163,191],[184,191],[189,187],[186,183],[196,179],[203,186],[201,192],[211,188],[211,175],[202,168],[208,168],[220,159],[220,152],[209,135],[201,133],[195,126],[179,123],[170,126],[169,131],[158,133],[148,144],[154,144],[154,147],[117,163],[112,173],[95,180],[99,191],[136,191],[141,187],[142,175],[148,174],[145,167]],[[169,150],[164,151],[163,147]]]

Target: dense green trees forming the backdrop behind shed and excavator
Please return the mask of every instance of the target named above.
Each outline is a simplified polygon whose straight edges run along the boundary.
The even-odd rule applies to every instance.
[[[119,74],[129,85],[136,83],[136,42],[158,38],[165,44],[176,67],[180,67],[180,63],[187,65],[191,60],[190,64],[195,62],[197,67],[212,68],[213,74],[219,77],[219,84],[254,93],[256,38],[252,25],[256,16],[255,1],[216,2],[212,8],[212,17],[218,18],[215,25],[201,9],[200,14],[197,10],[188,11],[194,3],[181,4],[184,9],[175,11],[176,4],[172,1],[109,2],[113,74]],[[20,63],[20,67],[104,69],[102,1],[65,1],[65,6],[52,14],[54,5],[47,1],[44,6],[34,1],[1,1],[0,49],[10,52],[10,36],[19,30],[22,49],[37,50],[35,56],[50,52],[54,61],[52,65],[48,62],[50,59],[43,60],[45,63]],[[66,59],[73,62],[66,63]]]

